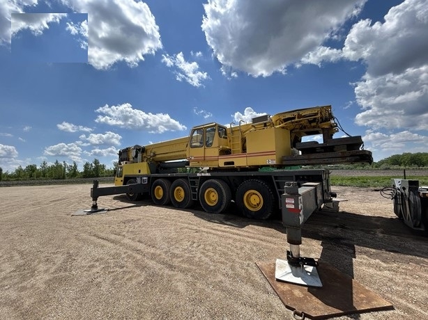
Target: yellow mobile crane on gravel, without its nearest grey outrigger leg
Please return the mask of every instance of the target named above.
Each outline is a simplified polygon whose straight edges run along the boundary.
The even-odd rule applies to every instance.
[[[316,207],[331,202],[328,170],[291,166],[372,162],[361,136],[333,138],[339,122],[331,106],[263,115],[252,123],[199,125],[190,135],[119,151],[114,187],[91,189],[92,209],[99,196],[126,193],[130,200],[149,195],[155,205],[222,213],[232,200],[249,218],[266,219],[284,204],[285,182],[320,183]],[[302,142],[321,134],[323,143]],[[203,170],[201,170],[203,169]]]

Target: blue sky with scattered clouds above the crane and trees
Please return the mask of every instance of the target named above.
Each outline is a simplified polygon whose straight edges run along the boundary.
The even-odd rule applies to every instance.
[[[374,161],[428,152],[427,30],[426,0],[1,1],[0,167],[323,105]]]

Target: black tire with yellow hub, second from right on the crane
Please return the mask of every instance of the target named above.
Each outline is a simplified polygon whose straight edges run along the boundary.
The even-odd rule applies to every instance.
[[[230,188],[222,180],[206,180],[199,189],[201,207],[210,214],[221,214],[229,207],[231,200]]]

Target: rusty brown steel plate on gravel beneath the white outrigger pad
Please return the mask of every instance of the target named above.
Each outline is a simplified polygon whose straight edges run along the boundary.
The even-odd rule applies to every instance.
[[[394,307],[379,295],[360,285],[330,264],[320,261],[317,267],[323,287],[304,287],[275,279],[275,262],[256,262],[282,303],[309,319],[327,319]]]

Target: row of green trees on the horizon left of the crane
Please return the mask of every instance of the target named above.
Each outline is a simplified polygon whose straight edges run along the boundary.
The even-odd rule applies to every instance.
[[[49,165],[46,161],[40,163],[40,166],[29,164],[25,168],[18,166],[15,171],[9,173],[3,172],[0,168],[0,181],[3,180],[31,180],[31,179],[73,179],[73,178],[95,178],[95,177],[113,177],[114,169],[106,168],[105,164],[100,163],[98,159],[93,159],[91,163],[86,162],[83,170],[79,171],[77,163],[62,163],[56,160]]]

